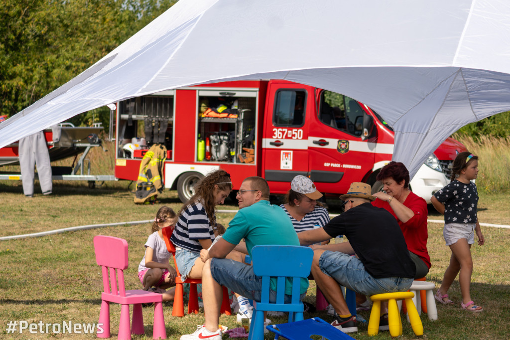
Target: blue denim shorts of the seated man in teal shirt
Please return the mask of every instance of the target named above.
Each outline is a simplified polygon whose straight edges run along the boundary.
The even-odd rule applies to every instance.
[[[253,267],[227,258],[213,258],[211,260],[211,275],[219,284],[232,289],[235,293],[250,300],[261,301],[262,276],[253,273]],[[302,300],[307,294],[300,295]],[[290,295],[285,294],[285,303],[292,301]],[[276,292],[270,289],[269,302],[276,302]]]

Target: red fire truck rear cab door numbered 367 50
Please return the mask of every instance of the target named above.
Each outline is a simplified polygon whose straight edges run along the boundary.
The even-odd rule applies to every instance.
[[[270,84],[263,132],[264,178],[285,193],[296,175],[308,176],[308,91],[299,84]],[[311,96],[313,97],[313,96]]]

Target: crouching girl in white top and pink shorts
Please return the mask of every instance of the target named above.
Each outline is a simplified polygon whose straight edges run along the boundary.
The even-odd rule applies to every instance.
[[[164,227],[175,226],[177,215],[168,207],[162,206],[154,222],[152,222],[152,233],[145,242],[145,255],[138,266],[138,278],[143,284],[143,290],[152,290],[156,293],[163,294],[163,301],[171,301],[174,296],[174,289],[167,288],[175,285],[176,271],[170,265],[169,258],[171,254],[168,252],[163,233],[161,229]]]

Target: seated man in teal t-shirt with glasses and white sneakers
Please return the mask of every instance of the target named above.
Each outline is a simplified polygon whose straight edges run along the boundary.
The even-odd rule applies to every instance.
[[[253,299],[261,300],[262,278],[253,273],[251,265],[226,259],[233,249],[251,256],[251,249],[261,245],[299,246],[299,239],[287,213],[277,205],[269,203],[269,185],[261,177],[246,178],[237,193],[239,212],[228,224],[228,228],[210,251],[202,250],[200,258],[205,262],[202,270],[202,299],[206,316],[205,327],[193,334],[181,336],[181,340],[205,339],[221,340],[218,330],[222,300],[221,285],[234,292]],[[244,238],[245,242],[242,242]],[[301,298],[306,295],[309,282],[301,280]],[[274,302],[276,294],[275,280],[271,281],[270,300]],[[290,302],[292,286],[286,283],[286,302]]]

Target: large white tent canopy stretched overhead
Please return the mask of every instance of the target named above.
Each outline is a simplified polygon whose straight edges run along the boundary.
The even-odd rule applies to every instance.
[[[510,109],[508,22],[505,0],[181,0],[0,124],[0,147],[135,96],[285,79],[377,111],[395,130],[393,159],[413,176],[448,135]]]

